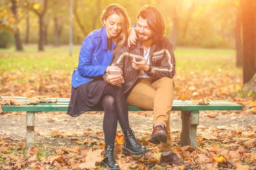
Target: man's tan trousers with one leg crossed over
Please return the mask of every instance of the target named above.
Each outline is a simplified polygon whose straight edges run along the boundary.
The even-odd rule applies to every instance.
[[[170,133],[170,113],[172,111],[174,83],[172,79],[163,77],[152,82],[151,78],[139,78],[131,93],[127,96],[127,103],[145,110],[154,111],[154,125],[162,123],[165,126],[167,142],[160,143],[158,150],[174,150]]]

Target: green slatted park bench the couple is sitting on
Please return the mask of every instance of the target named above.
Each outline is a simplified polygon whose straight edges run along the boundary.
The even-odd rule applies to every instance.
[[[2,96],[1,98],[4,98]],[[16,100],[28,101],[27,97],[15,97]],[[56,98],[51,98],[56,100]],[[49,111],[67,112],[70,99],[58,98],[56,103],[38,103],[36,105],[2,105],[3,111],[26,111],[26,148],[34,146],[35,113]],[[242,110],[242,106],[229,101],[210,101],[209,105],[195,105],[193,101],[174,100],[172,111],[181,111],[182,130],[180,133],[180,144],[198,147],[197,126],[199,124],[200,111],[233,111]],[[92,111],[103,111],[94,109]],[[128,111],[145,111],[136,106],[128,105]]]

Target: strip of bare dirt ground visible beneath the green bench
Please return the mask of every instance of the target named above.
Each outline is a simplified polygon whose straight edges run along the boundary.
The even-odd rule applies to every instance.
[[[68,148],[75,146],[77,141],[102,140],[95,136],[102,130],[103,112],[91,112],[78,117],[71,117],[64,112],[39,112],[35,114],[35,145],[44,146],[51,152],[55,147]],[[151,133],[152,112],[129,112],[129,121],[138,139],[145,133]],[[247,127],[256,125],[256,114],[240,114],[239,111],[201,111],[198,128],[205,126]],[[118,125],[118,130],[121,130]],[[171,131],[181,131],[180,112],[171,113]],[[52,137],[51,131],[74,134],[88,132],[89,136],[76,136],[76,138]],[[26,112],[0,114],[0,136],[9,136],[13,140],[26,142]],[[71,140],[74,139],[74,140]]]

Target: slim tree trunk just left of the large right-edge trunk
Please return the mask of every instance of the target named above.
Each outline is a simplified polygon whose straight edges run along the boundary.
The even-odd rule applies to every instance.
[[[236,67],[242,67],[243,54],[241,42],[241,8],[237,8],[236,12],[236,25],[235,25],[235,40],[236,40]]]

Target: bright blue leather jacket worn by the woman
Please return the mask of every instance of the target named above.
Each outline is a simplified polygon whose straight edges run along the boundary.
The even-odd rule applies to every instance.
[[[112,43],[112,49],[115,44]],[[104,75],[111,63],[113,52],[108,50],[106,27],[92,31],[84,38],[77,69],[73,71],[71,84],[74,88]]]

